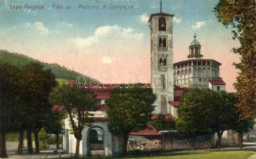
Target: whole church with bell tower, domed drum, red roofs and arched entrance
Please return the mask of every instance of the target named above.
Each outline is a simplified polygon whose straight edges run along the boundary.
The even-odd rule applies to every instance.
[[[165,114],[165,118],[177,118],[177,107],[186,87],[210,88],[215,91],[225,90],[225,82],[219,77],[220,63],[204,59],[200,42],[194,35],[188,46],[188,59],[173,63],[173,14],[159,13],[149,17],[151,83],[147,87],[157,95],[153,118]],[[76,81],[70,81],[76,86]],[[119,140],[107,129],[106,100],[111,98],[113,84],[87,86],[99,101],[99,110],[94,114],[91,126],[83,129],[80,142],[80,155],[117,156],[120,152]],[[76,138],[71,133],[68,118],[64,121],[63,149],[66,153],[75,153]],[[132,132],[130,135],[161,135],[155,129]]]

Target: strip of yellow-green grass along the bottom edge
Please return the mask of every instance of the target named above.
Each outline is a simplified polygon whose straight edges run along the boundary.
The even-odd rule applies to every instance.
[[[253,154],[250,150],[195,150],[195,151],[180,151],[158,156],[145,157],[126,157],[127,159],[247,159]],[[98,159],[103,157],[81,157]],[[105,157],[111,158],[111,157]],[[112,157],[114,159],[122,159],[123,157]],[[71,159],[71,158],[70,158]]]

